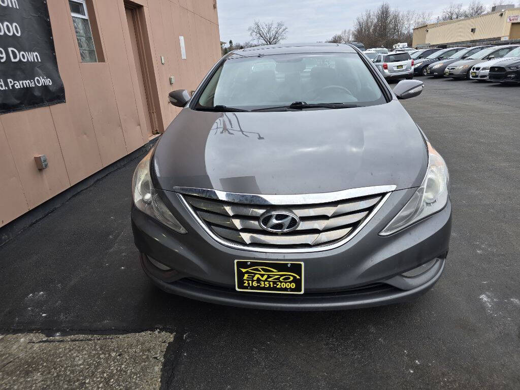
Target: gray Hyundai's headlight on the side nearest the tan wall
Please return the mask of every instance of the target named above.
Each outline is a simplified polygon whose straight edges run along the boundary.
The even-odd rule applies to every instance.
[[[132,179],[134,204],[140,211],[157,219],[160,223],[177,233],[184,234],[187,230],[173,216],[170,210],[168,210],[159,197],[159,192],[152,186],[152,179],[150,177],[150,160],[152,153],[153,149],[150,150],[146,157],[137,165],[137,168],[135,168],[134,177]]]

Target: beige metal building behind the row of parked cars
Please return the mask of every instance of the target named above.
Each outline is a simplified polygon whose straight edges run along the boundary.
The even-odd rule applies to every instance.
[[[520,40],[520,8],[413,29],[413,47]]]

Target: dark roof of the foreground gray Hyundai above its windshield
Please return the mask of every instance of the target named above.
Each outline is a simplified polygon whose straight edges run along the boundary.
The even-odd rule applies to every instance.
[[[229,58],[296,53],[356,53],[356,49],[349,44],[343,43],[288,43],[248,47],[232,51],[231,53]]]

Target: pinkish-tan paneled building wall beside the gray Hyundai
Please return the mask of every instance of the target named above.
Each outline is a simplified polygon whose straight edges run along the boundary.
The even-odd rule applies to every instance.
[[[195,89],[220,58],[214,4],[87,0],[104,62],[82,63],[68,0],[48,0],[67,102],[0,115],[0,227],[164,131],[179,112],[167,93]],[[45,170],[36,168],[38,154],[47,155]]]

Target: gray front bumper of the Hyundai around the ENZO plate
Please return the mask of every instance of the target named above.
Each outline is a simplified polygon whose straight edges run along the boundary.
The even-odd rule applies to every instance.
[[[414,188],[394,191],[367,225],[338,248],[304,253],[228,248],[207,235],[176,193],[163,191],[165,202],[188,233],[179,235],[133,207],[134,241],[143,254],[141,261],[145,272],[155,284],[165,291],[207,302],[288,310],[341,309],[402,302],[424,293],[440,277],[451,232],[451,204],[448,201],[443,210],[425,220],[394,235],[379,236],[414,191]],[[173,270],[155,267],[149,257]],[[304,262],[305,293],[295,297],[237,292],[235,259]],[[438,261],[421,277],[401,276],[432,259]],[[353,293],[353,289],[365,289],[374,283],[380,287],[362,294],[361,290]]]

